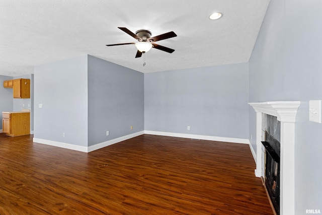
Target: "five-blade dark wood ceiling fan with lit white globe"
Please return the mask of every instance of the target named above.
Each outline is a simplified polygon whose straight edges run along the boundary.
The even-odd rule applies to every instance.
[[[122,31],[124,31],[125,33],[127,33],[128,35],[130,35],[131,37],[133,37],[134,39],[136,39],[138,42],[110,44],[107,46],[135,44],[135,46],[137,48],[137,52],[136,52],[135,57],[141,57],[142,53],[149,51],[151,48],[156,48],[156,49],[166,51],[169,53],[172,53],[175,51],[175,49],[168,48],[168,47],[165,47],[162,45],[157,45],[154,43],[159,40],[165,40],[165,39],[169,39],[172,37],[176,37],[177,34],[175,34],[175,32],[173,32],[173,31],[165,33],[165,34],[160,34],[155,37],[151,37],[151,32],[148,30],[138,30],[134,34],[130,30],[128,30],[127,28],[124,28],[124,27],[118,27],[118,28],[121,29]]]

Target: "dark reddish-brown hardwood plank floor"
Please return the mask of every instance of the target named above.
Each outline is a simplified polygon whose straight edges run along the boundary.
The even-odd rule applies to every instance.
[[[82,153],[0,133],[0,214],[273,214],[248,145],[141,135]]]

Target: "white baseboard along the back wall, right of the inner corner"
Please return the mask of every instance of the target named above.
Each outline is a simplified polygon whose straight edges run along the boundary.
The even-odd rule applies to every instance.
[[[150,131],[150,130],[145,130],[144,133],[160,135],[160,136],[173,136],[173,137],[203,139],[203,140],[212,140],[212,141],[220,141],[220,142],[234,142],[236,144],[250,144],[249,139],[240,139],[240,138],[232,138],[232,137],[207,136],[207,135],[196,135],[196,134],[187,134],[187,133],[171,133],[171,132]]]

